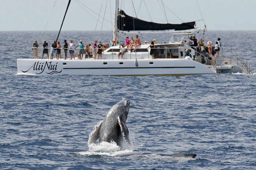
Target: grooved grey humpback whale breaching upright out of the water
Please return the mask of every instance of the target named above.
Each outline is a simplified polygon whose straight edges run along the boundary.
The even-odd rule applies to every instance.
[[[90,134],[88,144],[95,143],[99,139],[99,143],[115,142],[119,147],[122,147],[124,138],[129,145],[132,145],[129,139],[129,130],[126,126],[129,109],[130,101],[127,99],[115,104]]]

